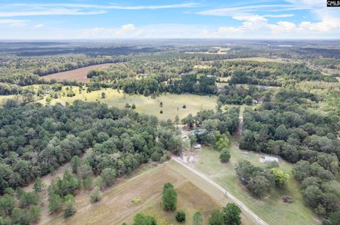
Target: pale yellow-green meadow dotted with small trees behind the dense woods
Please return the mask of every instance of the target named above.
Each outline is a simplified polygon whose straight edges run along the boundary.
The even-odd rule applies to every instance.
[[[63,87],[64,90],[65,87]],[[200,95],[173,95],[173,94],[164,94],[159,97],[152,99],[152,97],[145,97],[143,95],[127,95],[123,92],[118,92],[117,90],[113,90],[108,88],[107,90],[98,90],[91,93],[86,93],[83,91],[79,94],[79,87],[72,87],[74,93],[76,94],[74,97],[60,97],[59,99],[53,99],[51,104],[55,104],[60,102],[64,104],[64,102],[72,103],[77,99],[81,99],[86,102],[102,102],[108,104],[109,107],[118,107],[124,108],[125,104],[135,104],[136,111],[144,114],[151,114],[157,116],[160,119],[171,119],[174,121],[176,115],[179,115],[179,118],[184,118],[188,116],[188,114],[195,115],[201,109],[215,109],[216,106],[216,97],[215,96],[200,96]],[[106,93],[106,98],[101,98],[101,92]],[[45,99],[42,99],[40,102],[43,104],[46,103]],[[163,102],[163,107],[159,107],[159,103]],[[186,105],[186,109],[183,109],[183,105]],[[163,114],[160,114],[160,111],[163,111]]]

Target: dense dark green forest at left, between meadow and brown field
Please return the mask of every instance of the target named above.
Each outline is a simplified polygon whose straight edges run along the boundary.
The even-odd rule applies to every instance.
[[[180,152],[172,123],[154,116],[104,104],[75,102],[42,107],[8,101],[0,109],[0,192],[25,186],[84,155],[94,174],[108,167],[118,176],[134,171],[150,158],[165,161],[169,152]],[[157,138],[157,141],[156,141]]]

